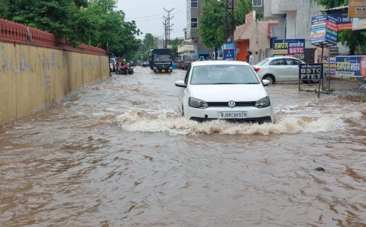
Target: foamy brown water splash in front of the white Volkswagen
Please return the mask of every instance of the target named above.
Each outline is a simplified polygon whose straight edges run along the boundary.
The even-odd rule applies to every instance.
[[[117,116],[119,125],[129,132],[168,132],[170,135],[197,134],[282,134],[305,132],[329,132],[343,129],[347,119],[360,118],[360,112],[346,114],[329,114],[318,117],[300,116],[280,119],[271,124],[231,123],[223,120],[196,122],[179,117],[178,113],[165,112],[148,114],[133,110]],[[159,116],[160,116],[159,115]]]

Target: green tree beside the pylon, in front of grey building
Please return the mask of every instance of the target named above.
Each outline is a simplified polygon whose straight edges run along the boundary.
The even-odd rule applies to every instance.
[[[217,0],[204,0],[202,4],[202,16],[199,21],[199,34],[204,45],[217,48],[224,42],[225,7],[223,2]]]

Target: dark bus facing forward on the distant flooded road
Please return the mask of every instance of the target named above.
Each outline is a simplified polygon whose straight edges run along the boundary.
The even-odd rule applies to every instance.
[[[150,50],[150,69],[156,73],[172,72],[172,52],[170,49]]]

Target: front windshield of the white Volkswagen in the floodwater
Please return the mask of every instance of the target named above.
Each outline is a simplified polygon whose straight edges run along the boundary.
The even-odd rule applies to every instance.
[[[205,65],[193,67],[190,84],[259,84],[250,66]]]

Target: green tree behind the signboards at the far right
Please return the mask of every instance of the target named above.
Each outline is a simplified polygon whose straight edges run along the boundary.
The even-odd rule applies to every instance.
[[[347,5],[348,0],[315,0],[326,8]],[[361,54],[366,52],[365,31],[338,31],[338,40],[349,48],[349,54]]]

